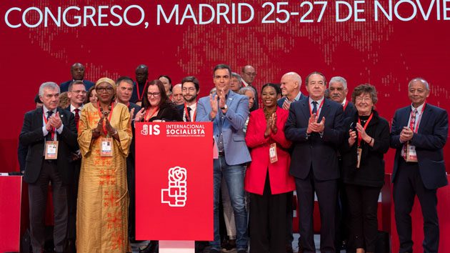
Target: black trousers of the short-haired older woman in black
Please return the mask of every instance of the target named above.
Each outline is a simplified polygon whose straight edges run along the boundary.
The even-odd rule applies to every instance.
[[[346,184],[350,212],[349,248],[375,252],[378,219],[376,211],[381,187]]]

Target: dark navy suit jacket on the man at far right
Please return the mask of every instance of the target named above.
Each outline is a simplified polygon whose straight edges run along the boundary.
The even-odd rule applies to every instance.
[[[400,133],[403,127],[408,127],[411,105],[396,110],[391,127],[391,147],[396,149],[392,182],[399,169],[401,149]],[[431,104],[426,104],[419,122],[419,129],[411,139],[416,147],[419,172],[427,189],[437,189],[448,184],[442,151],[449,133],[449,118],[447,111]]]

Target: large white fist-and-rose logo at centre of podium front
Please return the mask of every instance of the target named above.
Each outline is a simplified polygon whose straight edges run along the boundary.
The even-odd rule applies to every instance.
[[[173,167],[169,169],[169,188],[161,189],[161,204],[170,207],[184,207],[187,201],[187,171],[185,168]]]

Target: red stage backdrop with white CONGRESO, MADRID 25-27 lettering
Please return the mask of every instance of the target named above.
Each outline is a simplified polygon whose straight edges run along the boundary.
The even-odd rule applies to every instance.
[[[422,76],[429,103],[450,109],[449,19],[448,0],[1,1],[1,170],[18,167],[17,137],[39,84],[71,79],[74,62],[91,81],[134,77],[139,64],[149,66],[149,79],[166,74],[176,84],[194,75],[201,96],[219,63],[238,73],[255,66],[258,88],[287,71],[321,71],[344,76],[350,90],[374,84],[389,121],[409,104],[408,81]],[[445,154],[449,161],[449,145]]]

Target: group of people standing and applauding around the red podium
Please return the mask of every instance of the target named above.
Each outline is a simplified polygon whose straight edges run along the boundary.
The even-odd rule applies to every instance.
[[[72,66],[75,74],[78,67]],[[254,77],[254,69],[246,67],[243,72],[250,70]],[[410,213],[415,195],[424,214],[424,251],[437,252],[436,190],[447,184],[442,148],[448,116],[444,109],[426,103],[430,89],[425,79],[409,82],[411,105],[396,111],[389,130],[389,122],[375,109],[375,86],[356,86],[348,101],[346,80],[335,76],[327,89],[320,72],[306,76],[308,96],[301,94],[302,80],[295,72],[284,74],[280,84],[264,84],[260,93],[251,85],[236,93],[233,79],[241,76],[219,64],[213,70],[215,91],[197,100],[199,80],[186,76],[181,81],[184,102],[179,105],[163,83],[169,77],[147,81],[145,65],[136,69],[136,81],[126,76],[116,81],[101,78],[90,91],[83,76],[67,85],[71,99],[67,109],[58,107],[60,87],[46,82],[39,88],[44,105],[25,114],[19,139],[29,153],[25,180],[34,252],[44,247],[49,182],[56,252],[75,245],[77,252],[131,252],[136,121],[213,122],[219,157],[213,166],[211,253],[221,252],[221,189],[233,210],[234,224],[227,226],[234,225],[239,253],[292,252],[294,190],[299,252],[316,252],[314,194],[321,214],[321,252],[338,252],[336,242],[341,239],[348,239],[349,252],[374,252],[377,201],[389,147],[396,149],[392,178],[400,252],[412,252]],[[88,91],[95,91],[96,99],[89,96],[90,102],[84,104]],[[75,197],[69,197],[70,192]],[[341,216],[349,222],[348,236],[339,239],[337,210],[348,210]],[[76,229],[71,225],[75,219]]]

